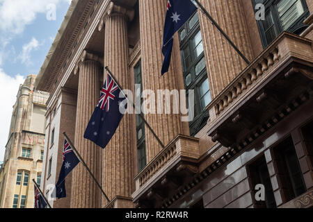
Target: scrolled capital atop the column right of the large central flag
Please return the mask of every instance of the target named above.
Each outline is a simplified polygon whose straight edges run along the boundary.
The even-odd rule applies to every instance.
[[[129,8],[127,6],[120,6],[113,1],[110,1],[104,10],[104,15],[102,19],[100,19],[98,31],[102,31],[104,28],[104,24],[106,23],[106,19],[111,17],[112,15],[121,15],[124,16],[125,19],[129,19],[129,21],[133,20],[135,17],[135,10],[133,8]]]

